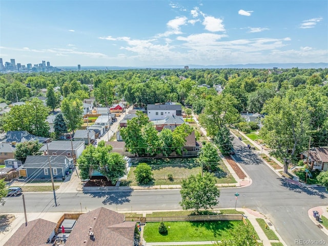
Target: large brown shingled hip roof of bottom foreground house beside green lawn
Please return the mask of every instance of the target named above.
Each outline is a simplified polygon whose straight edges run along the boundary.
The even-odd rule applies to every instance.
[[[136,222],[124,221],[125,215],[100,207],[82,214],[66,240],[65,246],[137,246]]]

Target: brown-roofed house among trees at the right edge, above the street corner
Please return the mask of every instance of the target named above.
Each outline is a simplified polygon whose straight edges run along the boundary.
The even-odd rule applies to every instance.
[[[303,153],[303,157],[307,158],[308,152]],[[311,171],[328,171],[328,147],[310,150],[309,168]]]

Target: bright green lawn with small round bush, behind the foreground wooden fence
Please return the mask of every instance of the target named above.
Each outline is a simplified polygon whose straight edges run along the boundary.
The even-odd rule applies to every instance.
[[[150,222],[145,226],[144,238],[147,242],[186,242],[215,241],[232,238],[231,230],[242,221],[203,221],[203,222],[165,222],[168,235],[158,233],[159,222]]]

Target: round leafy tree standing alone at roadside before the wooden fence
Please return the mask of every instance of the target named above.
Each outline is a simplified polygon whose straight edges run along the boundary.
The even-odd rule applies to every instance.
[[[219,203],[220,190],[215,186],[214,175],[205,173],[203,176],[191,175],[188,179],[182,180],[180,194],[180,205],[183,210],[194,209],[199,212],[200,209],[212,209]]]

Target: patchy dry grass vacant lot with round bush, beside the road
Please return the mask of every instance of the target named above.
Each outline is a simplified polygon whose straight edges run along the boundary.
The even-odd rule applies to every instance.
[[[160,159],[131,159],[132,166],[128,175],[128,180],[121,182],[121,186],[138,185],[135,180],[134,170],[138,163],[145,162],[152,167],[153,180],[145,185],[170,185],[181,184],[183,179],[190,175],[201,173],[201,167],[196,163],[197,158],[160,158]],[[223,163],[220,162],[219,168]],[[168,175],[172,174],[173,179],[170,180]],[[217,183],[235,183],[236,180],[232,175],[216,178]]]

